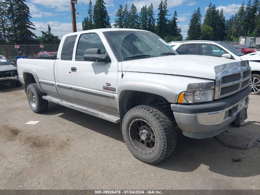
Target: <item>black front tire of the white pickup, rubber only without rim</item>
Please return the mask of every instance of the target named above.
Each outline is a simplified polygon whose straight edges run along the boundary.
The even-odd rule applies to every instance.
[[[153,152],[143,153],[134,147],[129,136],[129,127],[134,119],[146,120],[154,129],[157,144]],[[177,131],[164,110],[154,106],[140,105],[130,109],[122,121],[122,135],[125,144],[135,158],[147,164],[156,164],[172,154],[177,144]],[[176,122],[175,122],[176,123]]]

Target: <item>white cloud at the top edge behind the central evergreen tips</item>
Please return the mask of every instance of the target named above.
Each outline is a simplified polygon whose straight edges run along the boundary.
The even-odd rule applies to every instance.
[[[183,3],[187,2],[188,0],[171,0],[168,1],[168,7],[174,7],[174,6],[180,6]],[[151,0],[151,1],[146,1],[146,0],[134,0],[134,1],[128,1],[127,5],[131,5],[132,3],[134,3],[134,5],[137,7],[137,10],[140,11],[141,8],[145,5],[149,6],[151,3],[153,3],[154,8],[157,9],[158,5],[160,4],[161,0]]]

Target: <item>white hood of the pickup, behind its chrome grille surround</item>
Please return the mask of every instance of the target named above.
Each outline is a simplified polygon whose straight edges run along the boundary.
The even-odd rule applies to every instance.
[[[123,71],[147,72],[215,79],[216,66],[234,63],[232,59],[202,55],[169,55],[122,62]]]

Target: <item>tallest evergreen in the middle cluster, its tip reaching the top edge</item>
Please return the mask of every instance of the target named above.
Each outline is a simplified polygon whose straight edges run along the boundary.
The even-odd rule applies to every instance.
[[[159,13],[158,18],[157,18],[157,25],[156,25],[156,34],[159,37],[162,37],[162,39],[164,39],[164,37],[168,34],[169,32],[169,21],[168,21],[168,10],[167,10],[167,0],[165,0],[164,2],[161,0],[159,7],[158,7]]]

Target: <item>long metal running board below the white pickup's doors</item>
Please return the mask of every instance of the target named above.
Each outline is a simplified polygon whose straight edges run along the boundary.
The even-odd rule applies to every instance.
[[[51,97],[49,95],[42,96],[42,99],[48,100],[50,102],[54,102],[56,104],[60,104],[62,106],[66,106],[68,108],[72,108],[72,109],[80,111],[80,112],[84,112],[84,113],[92,115],[92,116],[96,116],[96,117],[101,118],[101,119],[108,120],[112,123],[120,123],[120,118],[118,116],[114,116],[114,115],[111,115],[111,114],[108,114],[108,113],[105,113],[105,112],[94,110],[92,108],[79,106],[77,104],[66,102],[64,100],[60,100],[58,98],[54,98],[54,97]]]

